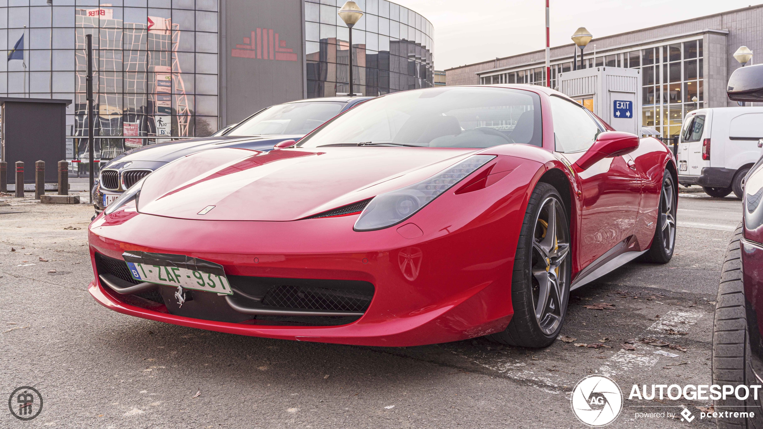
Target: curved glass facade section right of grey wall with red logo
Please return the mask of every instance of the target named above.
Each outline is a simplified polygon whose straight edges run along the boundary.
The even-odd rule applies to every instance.
[[[376,96],[433,86],[432,23],[386,0],[356,0],[365,12],[353,27],[353,91]],[[349,28],[336,14],[343,0],[305,2],[307,98],[349,92]]]

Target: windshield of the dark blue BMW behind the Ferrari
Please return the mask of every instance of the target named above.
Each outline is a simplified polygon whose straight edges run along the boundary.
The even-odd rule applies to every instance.
[[[307,134],[339,114],[345,104],[340,101],[278,104],[243,121],[225,135]]]

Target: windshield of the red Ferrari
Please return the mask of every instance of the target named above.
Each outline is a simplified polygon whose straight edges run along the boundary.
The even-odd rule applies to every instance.
[[[427,88],[366,101],[297,146],[542,146],[540,97],[497,87]]]

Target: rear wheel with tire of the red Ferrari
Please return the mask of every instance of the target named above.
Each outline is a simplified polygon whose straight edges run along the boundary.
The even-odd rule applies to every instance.
[[[676,189],[670,171],[662,175],[662,191],[657,214],[657,228],[652,247],[644,255],[647,262],[667,264],[673,258],[675,248]]]

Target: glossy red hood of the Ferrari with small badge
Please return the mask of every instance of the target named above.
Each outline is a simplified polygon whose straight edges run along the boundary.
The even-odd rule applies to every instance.
[[[138,210],[182,219],[303,219],[423,181],[478,150],[368,146],[208,150],[148,176]],[[214,208],[198,214],[208,206]]]

